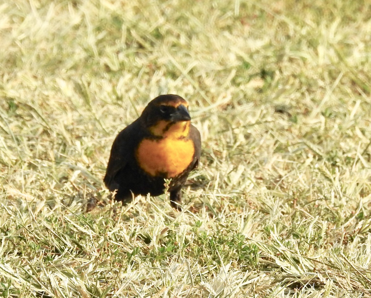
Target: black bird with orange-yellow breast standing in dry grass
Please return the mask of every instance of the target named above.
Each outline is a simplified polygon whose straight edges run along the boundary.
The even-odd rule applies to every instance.
[[[200,132],[191,124],[187,102],[178,95],[160,95],[117,135],[104,183],[117,190],[116,200],[129,202],[132,194],[163,194],[164,179],[171,179],[170,203],[180,209],[181,188],[200,153]]]

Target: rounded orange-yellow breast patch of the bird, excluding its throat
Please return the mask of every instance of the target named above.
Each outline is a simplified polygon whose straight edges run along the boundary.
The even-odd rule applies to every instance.
[[[136,158],[138,165],[150,174],[165,174],[167,179],[182,173],[192,162],[194,145],[189,139],[143,139],[139,143]]]

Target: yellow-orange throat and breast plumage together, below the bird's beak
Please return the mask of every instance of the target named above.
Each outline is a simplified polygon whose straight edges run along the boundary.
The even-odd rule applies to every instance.
[[[164,123],[162,123],[164,122]],[[151,130],[161,139],[143,139],[139,143],[136,158],[139,166],[151,176],[165,174],[165,178],[174,178],[182,173],[192,162],[194,155],[193,141],[186,138],[190,121],[177,122],[166,131],[168,122],[159,121]]]

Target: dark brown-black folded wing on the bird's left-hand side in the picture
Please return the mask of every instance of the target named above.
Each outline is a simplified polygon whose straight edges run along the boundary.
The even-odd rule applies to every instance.
[[[140,124],[138,119],[119,132],[114,140],[109,156],[104,184],[113,191],[119,189],[118,181],[115,180],[116,174],[127,166],[129,161],[134,158],[134,149],[140,136]]]

